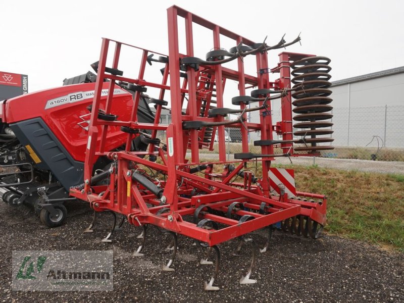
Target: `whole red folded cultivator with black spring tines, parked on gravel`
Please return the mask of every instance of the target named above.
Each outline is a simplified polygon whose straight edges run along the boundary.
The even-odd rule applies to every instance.
[[[178,49],[178,19],[185,21],[186,54],[180,54]],[[193,25],[203,26],[213,33],[213,51],[205,59],[194,57]],[[310,138],[306,135],[301,139],[293,139],[292,135],[292,93],[305,90],[305,76],[302,74],[327,73],[329,69],[321,67],[307,67],[316,63],[316,56],[305,54],[281,53],[280,63],[272,72],[279,72],[280,78],[270,82],[268,74],[268,51],[285,47],[300,40],[297,37],[290,43],[282,39],[275,45],[269,46],[264,42],[255,43],[203,18],[193,15],[179,7],[168,9],[169,55],[165,56],[150,52],[126,43],[103,38],[102,49],[98,65],[98,78],[92,104],[93,111],[89,123],[88,144],[84,164],[84,188],[71,189],[74,197],[86,200],[94,210],[93,222],[86,232],[91,232],[95,224],[96,213],[110,212],[113,215],[113,224],[110,233],[103,240],[111,241],[117,225],[117,214],[122,215],[121,226],[126,219],[130,224],[141,226],[143,232],[141,244],[134,252],[134,256],[142,256],[141,250],[145,245],[147,226],[155,225],[160,231],[170,234],[173,238],[169,245],[172,255],[163,270],[171,271],[177,252],[177,234],[193,238],[202,247],[207,247],[207,255],[200,261],[201,264],[212,264],[209,257],[215,255],[214,274],[209,282],[205,282],[206,290],[218,290],[214,285],[219,271],[220,252],[218,244],[238,238],[240,243],[234,254],[237,255],[243,243],[253,246],[252,261],[248,272],[240,279],[241,284],[255,283],[250,278],[257,259],[257,247],[247,234],[262,228],[267,230],[267,243],[260,249],[265,252],[269,247],[272,226],[282,222],[281,229],[296,235],[317,238],[326,223],[326,197],[321,194],[286,190],[290,184],[274,182],[271,180],[271,162],[276,157],[303,156],[293,151],[293,143],[306,146],[309,154],[317,153],[317,144],[322,142],[314,132]],[[221,47],[220,35],[234,40],[233,47],[225,51]],[[106,67],[108,50],[115,46],[112,67]],[[137,79],[123,76],[119,70],[119,58],[122,47],[135,47],[141,49],[142,58]],[[155,59],[154,55],[161,55]],[[255,56],[257,76],[244,72],[243,57]],[[310,58],[310,59],[308,59]],[[323,58],[323,57],[321,57]],[[236,60],[237,70],[229,69],[223,64]],[[293,62],[302,61],[301,65]],[[152,68],[164,65],[162,81],[149,82],[144,80],[146,63]],[[310,64],[309,64],[310,63]],[[328,62],[327,62],[328,65]],[[304,66],[296,75],[300,76],[296,87],[291,87],[290,67]],[[160,68],[160,67],[159,67]],[[265,72],[267,71],[267,72]],[[309,75],[312,76],[312,75]],[[314,76],[312,76],[314,77]],[[322,80],[317,75],[313,80]],[[100,106],[99,98],[102,89],[102,79],[109,79],[113,87],[115,82],[121,81],[140,87],[134,94],[131,119],[127,121],[105,121],[94,114],[98,110],[110,112],[113,94],[109,93],[104,107]],[[219,80],[218,80],[219,79]],[[329,79],[329,78],[328,78]],[[226,80],[237,81],[239,95],[232,98],[232,104],[239,109],[224,107],[223,91]],[[167,85],[167,83],[170,83]],[[311,83],[311,84],[310,84]],[[320,87],[326,89],[324,83],[310,82],[310,88]],[[160,89],[158,98],[154,99],[156,108],[155,122],[139,123],[136,119],[137,105],[142,91],[147,87]],[[255,87],[251,95],[246,95],[246,87]],[[307,88],[309,89],[309,88]],[[160,123],[161,110],[167,106],[164,100],[167,90],[171,99],[171,123]],[[109,91],[112,91],[111,89]],[[310,93],[309,97],[316,100],[322,92]],[[182,113],[185,95],[188,95],[186,112]],[[328,97],[327,97],[328,98]],[[282,107],[282,120],[272,124],[271,106],[269,99],[278,99],[284,103]],[[256,109],[247,109],[250,103],[258,103]],[[310,105],[315,105],[312,101]],[[324,104],[324,101],[320,104]],[[246,121],[246,112],[257,110],[260,112],[260,123]],[[303,109],[305,111],[305,109]],[[314,113],[323,113],[325,108],[314,107]],[[305,114],[311,113],[307,110]],[[237,119],[225,120],[224,116],[239,113]],[[309,122],[307,128],[318,126],[317,120],[324,116],[306,116]],[[226,146],[224,140],[224,125],[240,129],[242,137],[242,153],[234,155],[234,161],[226,161]],[[99,126],[102,126],[101,128]],[[120,126],[127,133],[127,145],[122,151],[108,151],[105,148],[106,132],[109,127]],[[143,136],[140,130],[149,130],[147,136],[150,144],[147,151],[131,151],[130,142],[137,136]],[[166,142],[157,138],[157,132],[166,132]],[[260,131],[261,140],[255,145],[261,146],[262,154],[249,152],[248,132]],[[273,139],[273,131],[283,135],[282,140]],[[213,148],[215,134],[218,133],[219,160],[201,163],[199,151],[201,148]],[[143,138],[144,139],[144,138]],[[97,141],[100,140],[99,144]],[[324,140],[324,139],[323,139]],[[325,142],[329,142],[325,141]],[[274,154],[274,146],[280,145],[283,154]],[[310,146],[314,148],[310,148]],[[190,159],[187,152],[190,151]],[[99,156],[108,157],[113,164],[104,173],[93,176],[92,166],[94,159]],[[158,159],[158,161],[156,161]],[[262,163],[262,177],[254,176],[250,171],[244,170],[247,163],[260,159]],[[222,168],[220,173],[214,173],[214,167]],[[145,169],[147,168],[147,170]],[[148,173],[150,172],[150,173]],[[156,176],[164,175],[165,180]],[[201,176],[202,175],[202,176]],[[241,177],[242,182],[234,182],[235,177]],[[94,185],[95,181],[106,179],[106,185]],[[279,180],[284,180],[279,176]],[[99,183],[97,183],[99,184]],[[278,193],[273,193],[273,189]],[[292,186],[293,187],[293,186]]]

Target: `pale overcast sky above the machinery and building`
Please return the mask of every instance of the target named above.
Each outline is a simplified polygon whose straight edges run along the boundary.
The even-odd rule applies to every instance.
[[[332,80],[404,66],[404,2],[398,0],[19,0],[0,5],[0,71],[27,74],[32,92],[87,72],[102,37],[168,54],[166,9],[174,4],[257,42],[268,35],[269,45],[301,32],[302,45],[287,51],[331,58]],[[198,39],[197,53],[212,46]],[[271,65],[279,52],[269,53]]]

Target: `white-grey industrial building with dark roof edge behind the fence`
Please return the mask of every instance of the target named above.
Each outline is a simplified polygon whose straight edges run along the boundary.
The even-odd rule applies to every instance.
[[[404,66],[334,81],[330,89],[332,145],[366,146],[378,136],[386,147],[404,147]],[[280,99],[272,100],[271,106],[275,124],[281,121]],[[257,112],[251,112],[249,119],[260,121]],[[259,135],[250,133],[250,140]],[[376,142],[368,146],[375,147]]]

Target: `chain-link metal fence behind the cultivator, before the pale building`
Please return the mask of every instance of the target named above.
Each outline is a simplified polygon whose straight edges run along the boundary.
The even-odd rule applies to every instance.
[[[334,149],[322,151],[322,157],[404,161],[404,105],[335,108],[332,114],[334,141],[331,145]],[[170,123],[168,116],[162,118],[162,123]],[[276,123],[278,117],[273,118],[273,123]],[[250,115],[249,121],[259,123],[259,115]],[[250,153],[261,153],[261,147],[254,146],[254,140],[258,140],[260,135],[260,132],[249,133]],[[163,133],[160,137],[165,138]],[[275,136],[274,139],[281,137]],[[240,130],[225,128],[225,140],[227,158],[231,160],[233,154],[242,152]],[[217,138],[213,148],[213,150],[201,149],[200,160],[217,160],[219,153]],[[280,152],[280,149],[275,152],[278,151]]]

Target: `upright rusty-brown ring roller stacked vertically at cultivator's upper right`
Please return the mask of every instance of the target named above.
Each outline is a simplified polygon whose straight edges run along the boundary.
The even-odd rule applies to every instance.
[[[332,91],[328,89],[331,86],[330,62],[326,57],[314,56],[294,61],[290,65],[293,69],[291,81],[294,84],[292,97],[295,99],[292,102],[293,113],[297,114],[293,120],[298,121],[293,127],[301,129],[295,131],[294,135],[305,136],[307,142],[307,146],[293,147],[295,151],[310,152],[334,148],[330,145],[317,145],[334,140],[330,136],[324,136],[333,133],[333,123],[323,121],[332,118],[329,113],[332,110],[329,105],[332,102],[329,97]]]

